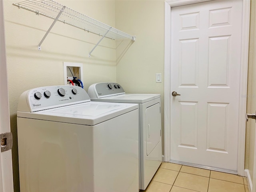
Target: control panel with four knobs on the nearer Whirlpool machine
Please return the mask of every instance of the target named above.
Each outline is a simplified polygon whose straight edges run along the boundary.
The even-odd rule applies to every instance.
[[[39,87],[21,94],[18,111],[35,112],[88,101],[90,101],[88,94],[78,86]]]

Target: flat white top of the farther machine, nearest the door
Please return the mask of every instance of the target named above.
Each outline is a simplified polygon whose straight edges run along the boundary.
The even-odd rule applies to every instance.
[[[160,94],[122,94],[118,96],[110,96],[104,98],[91,98],[92,101],[102,102],[118,102],[118,103],[145,103],[156,98],[160,98]]]

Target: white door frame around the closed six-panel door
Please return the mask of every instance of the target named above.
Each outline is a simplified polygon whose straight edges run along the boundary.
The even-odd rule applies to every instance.
[[[171,91],[171,13],[172,7],[207,2],[211,0],[166,0],[164,2],[164,161],[169,162],[171,155],[170,137],[170,96]],[[238,119],[238,175],[244,176],[244,156],[245,156],[245,134],[246,134],[246,95],[248,76],[248,53],[249,53],[249,30],[250,30],[250,0],[243,1],[242,15],[242,52],[241,52],[241,72],[240,72],[240,99],[239,99],[239,119]]]

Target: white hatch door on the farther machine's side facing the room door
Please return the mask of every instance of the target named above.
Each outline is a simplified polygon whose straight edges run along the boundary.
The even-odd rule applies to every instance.
[[[146,148],[147,156],[152,152],[161,139],[160,103],[146,108]]]

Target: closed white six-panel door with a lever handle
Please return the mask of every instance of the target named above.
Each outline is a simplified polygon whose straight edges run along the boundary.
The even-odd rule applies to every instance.
[[[236,172],[242,1],[171,14],[171,161]]]

